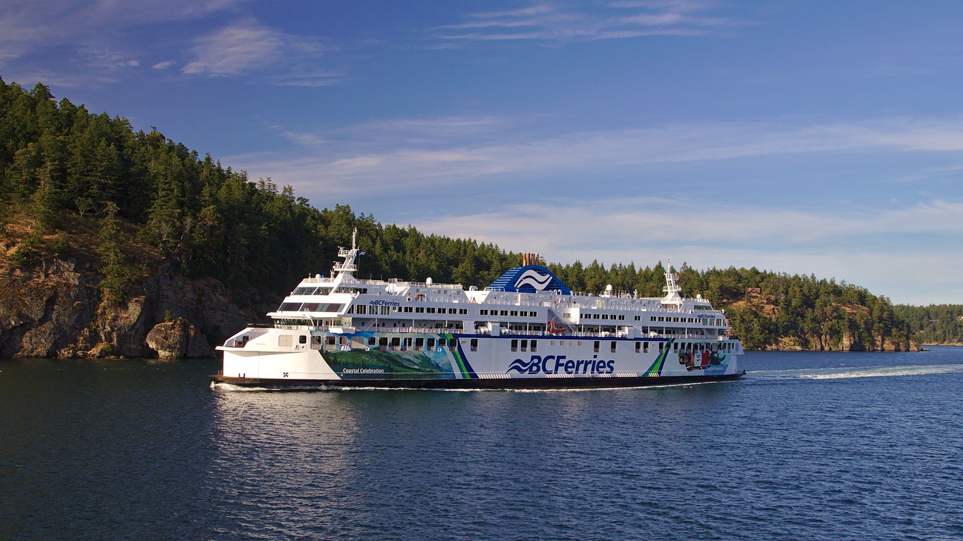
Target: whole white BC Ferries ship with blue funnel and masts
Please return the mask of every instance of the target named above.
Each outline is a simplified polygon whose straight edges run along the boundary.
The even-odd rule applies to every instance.
[[[355,232],[356,235],[356,232]],[[681,295],[572,292],[537,254],[483,290],[354,276],[351,238],[330,276],[300,281],[218,349],[215,388],[567,389],[736,379],[742,354],[725,313]]]

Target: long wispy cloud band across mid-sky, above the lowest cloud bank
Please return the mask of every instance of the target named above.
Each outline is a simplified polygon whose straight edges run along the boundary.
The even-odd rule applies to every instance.
[[[370,190],[381,182],[445,186],[485,177],[557,175],[600,167],[641,167],[779,155],[840,152],[960,152],[963,118],[884,119],[861,123],[786,126],[781,123],[669,125],[641,129],[526,136],[515,122],[496,117],[366,123],[332,134],[294,134],[316,144],[298,158],[262,161],[235,157],[247,170],[280,171],[292,184]],[[350,137],[346,137],[350,134]],[[337,143],[328,143],[337,142]],[[310,179],[310,180],[308,180]],[[390,179],[390,180],[389,180]]]

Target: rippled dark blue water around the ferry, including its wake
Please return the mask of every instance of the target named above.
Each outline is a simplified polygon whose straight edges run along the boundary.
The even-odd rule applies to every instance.
[[[963,348],[737,382],[225,392],[0,362],[0,539],[960,539]]]

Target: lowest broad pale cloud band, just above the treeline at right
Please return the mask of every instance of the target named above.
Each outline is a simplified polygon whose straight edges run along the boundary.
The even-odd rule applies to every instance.
[[[963,264],[958,249],[958,233],[963,230],[959,202],[861,209],[846,216],[828,209],[779,211],[739,203],[707,208],[702,202],[631,197],[519,203],[485,213],[459,211],[415,217],[412,225],[511,251],[537,251],[560,263],[597,260],[645,267],[672,259],[676,266],[685,262],[697,269],[754,266],[835,277],[898,302],[945,301],[912,289],[925,269],[926,280],[944,288],[944,294],[951,298],[963,294],[954,270]],[[886,242],[892,235],[927,238],[946,248],[947,259],[934,257],[923,242],[894,247]]]

